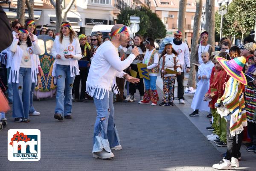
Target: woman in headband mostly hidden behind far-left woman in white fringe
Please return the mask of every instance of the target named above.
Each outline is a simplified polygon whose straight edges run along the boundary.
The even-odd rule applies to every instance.
[[[34,35],[35,41],[38,42],[38,38],[36,36],[36,24],[35,24],[35,20],[28,18],[25,20],[25,28],[29,31],[29,33]],[[39,56],[36,56],[36,62],[37,62],[37,73],[39,75],[41,75],[41,65],[40,65],[40,61],[39,61]],[[40,115],[40,113],[38,111],[35,110],[35,107],[33,106],[33,95],[34,95],[34,90],[35,90],[35,83],[32,82],[32,86],[31,86],[31,93],[30,93],[30,109],[29,109],[29,115],[34,115],[34,116],[38,116]]]

